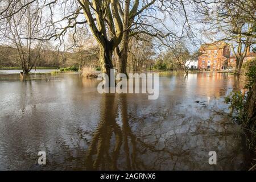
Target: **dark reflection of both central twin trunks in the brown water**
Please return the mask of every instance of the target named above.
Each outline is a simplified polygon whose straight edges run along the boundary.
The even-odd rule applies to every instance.
[[[122,119],[121,126],[117,123],[118,109]],[[105,94],[102,97],[101,110],[101,120],[94,132],[86,156],[86,169],[117,170],[118,158],[126,160],[128,170],[142,169],[144,164],[137,159],[137,142],[143,142],[138,140],[131,131],[127,114],[127,95]],[[111,146],[112,143],[114,147]],[[146,146],[146,144],[143,145]],[[123,147],[124,156],[120,156],[121,147]]]

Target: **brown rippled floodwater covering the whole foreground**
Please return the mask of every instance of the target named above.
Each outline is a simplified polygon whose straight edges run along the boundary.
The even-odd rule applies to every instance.
[[[79,74],[0,76],[0,169],[245,169],[246,142],[224,97],[227,73],[159,76],[159,98],[100,94]],[[46,165],[38,152],[46,151]],[[217,164],[210,165],[209,151]]]

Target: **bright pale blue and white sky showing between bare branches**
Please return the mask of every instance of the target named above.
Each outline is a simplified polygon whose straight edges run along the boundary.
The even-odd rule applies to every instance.
[[[44,0],[40,0],[44,2]],[[52,2],[52,0],[46,0],[46,3]],[[156,2],[152,8],[154,10],[149,9],[146,11],[146,14],[148,15],[147,18],[144,18],[144,22],[148,24],[152,24],[156,30],[161,30],[163,32],[163,35],[166,35],[168,33],[172,33],[174,38],[178,39],[179,37],[183,37],[183,41],[187,44],[187,47],[190,52],[195,52],[200,48],[201,44],[205,43],[210,43],[210,39],[205,36],[204,34],[201,33],[203,28],[205,28],[205,24],[199,23],[197,17],[197,14],[193,10],[195,10],[195,6],[193,6],[189,1],[183,1],[184,3],[184,9],[183,6],[181,6],[180,1],[172,1],[174,4],[170,6],[171,4],[169,3],[170,1],[164,1],[164,5],[169,6],[170,10],[167,13],[166,11],[162,11],[159,7],[159,1]],[[74,10],[77,8],[76,5],[77,1],[76,0],[68,0],[67,3],[63,3],[63,1],[57,1],[57,6],[52,6],[52,9],[49,9],[49,7],[43,7],[42,13],[44,16],[44,19],[47,22],[58,22],[59,20],[63,19],[64,16],[67,16],[69,14],[72,14]],[[35,6],[36,4],[34,4]],[[140,5],[141,7],[141,5]],[[163,8],[162,8],[163,9]],[[51,16],[51,11],[53,13],[53,16]],[[81,11],[82,12],[82,11]],[[185,19],[185,13],[187,15],[188,21],[186,22]],[[150,17],[151,16],[151,17]],[[85,20],[84,15],[79,15],[79,18],[77,20],[82,21]],[[157,18],[154,18],[157,17]],[[137,19],[135,19],[137,20]],[[68,24],[68,20],[62,20],[58,23],[55,24],[55,28],[61,28],[65,27]],[[80,25],[81,26],[81,25]],[[84,28],[88,28],[88,25],[82,25]],[[89,28],[88,28],[89,29]],[[71,34],[75,29],[74,28],[69,28],[65,36],[61,36],[60,39],[64,40],[61,44],[61,49],[67,49],[67,40],[68,40],[68,34]],[[152,29],[151,29],[152,30]],[[184,31],[185,30],[185,31]],[[58,32],[60,32],[58,30]],[[88,31],[88,34],[92,34],[91,32]],[[209,35],[209,34],[208,34]],[[221,33],[219,32],[218,34],[215,34],[216,40],[218,37],[221,37]],[[50,40],[51,44],[54,46],[57,46],[60,44],[59,40]],[[93,42],[93,40],[92,40]],[[171,45],[172,42],[174,42],[174,39],[171,39],[168,37],[168,39],[164,40],[165,44]],[[162,51],[166,51],[168,47],[160,47],[160,42],[158,39],[155,39],[155,51],[156,53],[161,53]],[[94,44],[94,43],[93,43]]]

